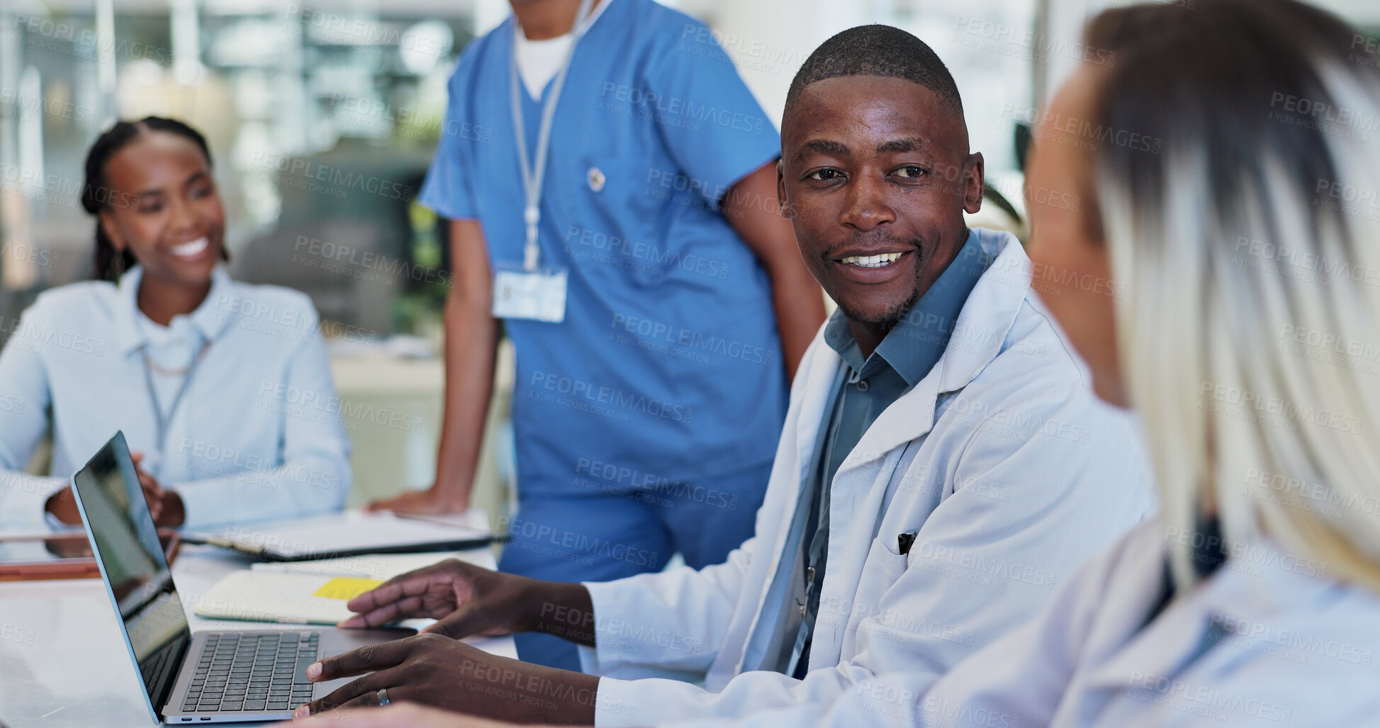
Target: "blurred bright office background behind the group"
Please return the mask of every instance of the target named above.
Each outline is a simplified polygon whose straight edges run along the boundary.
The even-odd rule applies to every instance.
[[[777,120],[829,35],[916,33],[954,72],[973,149],[1016,213],[991,204],[980,222],[1020,229],[1017,127],[1096,52],[1079,44],[1086,18],[1129,0],[662,1],[715,30]],[[1318,4],[1380,35],[1374,0]],[[310,294],[342,398],[422,423],[349,423],[351,503],[429,485],[448,274],[444,231],[413,200],[458,54],[508,14],[506,0],[0,0],[0,340],[40,291],[90,274],[77,199],[97,134],[117,117],[185,119],[215,155],[232,275]],[[511,479],[501,361],[476,490],[495,518]]]

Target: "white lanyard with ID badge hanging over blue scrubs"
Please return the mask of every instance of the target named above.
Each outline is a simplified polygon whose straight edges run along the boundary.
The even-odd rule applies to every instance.
[[[575,54],[575,46],[585,32],[585,18],[589,17],[592,0],[581,0],[575,12],[575,22],[571,26],[573,39],[570,50],[566,52],[566,62],[556,73],[551,87],[551,95],[541,109],[541,126],[537,130],[537,159],[527,162],[527,133],[522,113],[522,91],[518,80],[518,51],[516,37],[513,43],[512,62],[509,64],[509,99],[512,101],[513,131],[518,142],[518,160],[522,164],[523,192],[527,206],[523,209],[523,222],[527,227],[527,243],[523,247],[522,265],[500,261],[494,265],[494,307],[493,314],[504,319],[530,319],[546,323],[560,323],[566,320],[566,283],[567,275],[563,268],[541,267],[541,249],[537,246],[537,231],[541,222],[541,184],[546,175],[546,153],[551,149],[551,123],[556,115],[556,101],[560,98],[560,88],[566,84],[566,73],[570,70],[570,58]],[[515,25],[515,30],[522,33],[522,28]]]

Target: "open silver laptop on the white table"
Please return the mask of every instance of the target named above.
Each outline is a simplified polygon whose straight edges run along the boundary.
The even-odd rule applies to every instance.
[[[72,490],[156,722],[290,718],[297,706],[353,680],[309,682],[308,664],[414,634],[403,629],[193,634],[123,432],[72,477]]]

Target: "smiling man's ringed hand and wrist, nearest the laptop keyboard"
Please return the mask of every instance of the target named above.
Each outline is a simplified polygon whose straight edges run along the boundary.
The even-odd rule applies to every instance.
[[[440,634],[418,634],[324,658],[306,669],[324,682],[368,673],[301,706],[294,717],[408,700],[513,722],[592,725],[599,678],[490,655]],[[386,691],[381,693],[379,691]]]

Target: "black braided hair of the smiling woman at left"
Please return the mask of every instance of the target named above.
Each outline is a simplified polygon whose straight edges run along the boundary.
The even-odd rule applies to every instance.
[[[105,227],[101,225],[99,213],[102,209],[110,207],[113,198],[110,185],[105,180],[106,162],[139,134],[148,131],[167,131],[192,141],[206,155],[206,166],[211,166],[211,149],[206,145],[206,137],[177,119],[145,116],[138,122],[116,122],[115,126],[105,130],[87,152],[86,184],[81,186],[81,207],[87,213],[98,215],[95,221],[95,261],[91,272],[91,278],[95,280],[119,280],[124,271],[138,262],[128,249],[115,250],[115,245],[105,233]]]

